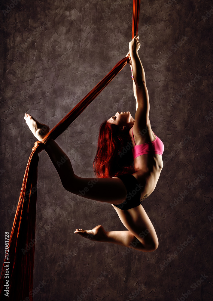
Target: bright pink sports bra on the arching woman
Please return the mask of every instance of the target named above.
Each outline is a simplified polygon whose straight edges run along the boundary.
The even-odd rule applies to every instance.
[[[156,136],[156,135],[155,135]],[[132,137],[135,143],[135,139],[132,132]],[[156,136],[155,140],[152,142],[147,142],[143,144],[136,145],[132,148],[133,158],[137,158],[138,156],[145,154],[159,154],[162,156],[164,151],[163,142]]]

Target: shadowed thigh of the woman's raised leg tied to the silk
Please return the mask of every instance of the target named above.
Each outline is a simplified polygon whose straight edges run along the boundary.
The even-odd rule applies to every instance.
[[[126,199],[126,187],[120,178],[81,178],[67,179],[64,188],[87,199],[111,204],[123,203]]]

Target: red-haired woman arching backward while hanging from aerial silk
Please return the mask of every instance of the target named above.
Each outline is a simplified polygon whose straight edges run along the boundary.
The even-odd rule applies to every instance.
[[[140,202],[156,187],[163,168],[163,143],[151,130],[148,90],[144,69],[138,56],[140,48],[138,39],[138,36],[132,39],[126,55],[129,56],[128,63],[132,70],[136,99],[135,119],[129,112],[117,112],[102,124],[98,151],[94,160],[94,169],[98,178],[81,178],[75,175],[67,155],[53,139],[45,145],[45,151],[67,191],[79,194],[79,191],[84,189],[83,197],[111,203],[127,229],[127,231],[105,231],[101,225],[98,225],[87,231],[76,229],[75,233],[91,240],[151,252],[158,247],[157,234]],[[48,126],[39,123],[31,115],[25,114],[24,119],[39,141],[49,132]],[[102,143],[103,139],[105,143]],[[120,151],[115,143],[116,139]],[[128,145],[124,147],[123,141],[134,146],[132,148],[134,167],[131,165],[132,155],[126,156],[123,160],[123,154],[128,149]],[[106,155],[106,149],[110,152],[110,156]],[[62,158],[66,159],[65,163],[58,164]],[[102,164],[103,160],[104,164]],[[88,181],[94,185],[88,187]]]

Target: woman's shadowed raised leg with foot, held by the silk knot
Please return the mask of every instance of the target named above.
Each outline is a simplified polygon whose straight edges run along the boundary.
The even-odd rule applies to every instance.
[[[24,119],[33,135],[41,141],[49,131],[49,127],[39,123],[29,114],[25,114]],[[43,130],[44,128],[45,130]],[[111,204],[120,204],[126,199],[126,188],[119,178],[78,177],[73,171],[68,156],[53,139],[50,139],[45,145],[45,151],[53,162],[62,185],[67,191],[87,199]]]

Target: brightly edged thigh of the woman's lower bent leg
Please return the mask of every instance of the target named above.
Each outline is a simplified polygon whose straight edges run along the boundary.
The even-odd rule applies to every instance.
[[[129,210],[121,210],[115,206],[113,207],[126,229],[142,244],[153,247],[158,246],[158,238],[154,226],[142,205]]]

